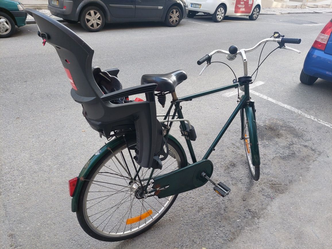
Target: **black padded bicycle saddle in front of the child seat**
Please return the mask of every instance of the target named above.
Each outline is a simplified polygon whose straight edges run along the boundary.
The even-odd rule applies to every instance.
[[[157,92],[173,92],[177,85],[187,79],[185,71],[177,70],[165,74],[144,74],[141,78],[141,85],[156,83]]]

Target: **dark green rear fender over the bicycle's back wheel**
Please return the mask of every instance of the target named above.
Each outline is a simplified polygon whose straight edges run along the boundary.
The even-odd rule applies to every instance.
[[[136,139],[136,133],[129,133],[126,134],[126,139]],[[168,135],[168,139],[173,140],[181,149],[182,153],[186,155],[182,145],[180,142],[173,137],[172,135]],[[118,137],[116,139],[111,140],[110,142],[106,143],[103,147],[101,147],[84,165],[83,169],[81,170],[80,174],[78,175],[78,182],[75,188],[75,192],[73,195],[73,198],[71,199],[71,211],[77,212],[77,206],[78,206],[78,199],[81,193],[81,189],[83,186],[83,179],[85,179],[91,172],[91,170],[95,167],[96,163],[103,157],[105,154],[109,151],[108,148],[114,148],[118,146],[119,144],[124,142],[123,136]],[[187,157],[185,156],[185,165],[188,165]]]

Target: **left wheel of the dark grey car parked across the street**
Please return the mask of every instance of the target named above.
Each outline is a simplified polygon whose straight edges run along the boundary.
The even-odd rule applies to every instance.
[[[95,6],[88,6],[81,12],[81,26],[89,32],[98,32],[105,25],[104,13]]]

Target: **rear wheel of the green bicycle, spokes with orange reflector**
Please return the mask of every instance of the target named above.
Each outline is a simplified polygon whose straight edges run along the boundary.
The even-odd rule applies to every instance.
[[[168,139],[169,156],[161,170],[155,169],[153,177],[166,174],[185,164],[185,154]],[[136,140],[112,148],[85,179],[76,212],[83,230],[103,241],[120,241],[132,238],[154,225],[173,205],[177,195],[158,199],[153,193],[142,195],[152,169],[133,165]],[[129,148],[129,149],[128,149]]]

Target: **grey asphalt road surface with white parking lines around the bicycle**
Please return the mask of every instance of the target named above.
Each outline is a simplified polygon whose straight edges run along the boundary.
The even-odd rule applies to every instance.
[[[112,24],[99,33],[65,24],[95,49],[93,65],[120,68],[125,87],[146,73],[183,69],[188,79],[178,96],[230,84],[234,76],[220,63],[196,61],[230,45],[249,48],[279,31],[301,38],[275,51],[262,65],[253,88],[261,153],[261,178],[251,180],[236,118],[209,158],[215,181],[231,188],[225,198],[212,186],[180,194],[149,231],[107,243],[89,237],[70,210],[67,181],[77,176],[100,139],[70,97],[70,84],[52,46],[43,47],[38,27],[27,25],[0,52],[0,241],[3,248],[331,248],[332,123],[331,82],[299,82],[306,52],[332,14],[265,15],[257,21],[185,19],[177,28],[158,23]],[[276,44],[267,44],[263,55]],[[248,54],[249,71],[259,51]],[[241,60],[227,62],[237,76]],[[264,83],[264,84],[263,84]],[[229,94],[231,95],[231,94]],[[236,95],[215,94],[183,104],[195,126],[197,158],[236,106]],[[170,98],[168,97],[167,103]],[[159,105],[158,113],[165,112]],[[312,117],[311,117],[312,116]],[[82,132],[82,130],[85,130]],[[172,130],[179,137],[179,131]]]

